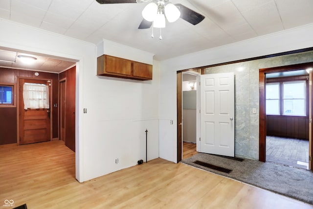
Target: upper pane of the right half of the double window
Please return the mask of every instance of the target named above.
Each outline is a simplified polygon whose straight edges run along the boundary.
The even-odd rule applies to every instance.
[[[284,83],[284,99],[305,99],[305,81]]]

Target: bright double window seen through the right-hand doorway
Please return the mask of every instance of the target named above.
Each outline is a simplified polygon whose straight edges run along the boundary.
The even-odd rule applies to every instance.
[[[266,114],[306,116],[306,81],[285,81],[266,84]]]

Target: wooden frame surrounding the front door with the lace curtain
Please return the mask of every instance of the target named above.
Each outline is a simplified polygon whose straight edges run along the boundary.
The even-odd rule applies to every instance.
[[[17,77],[17,99],[16,99],[16,117],[17,117],[17,144],[20,145],[20,86],[21,79],[28,80],[42,80],[42,81],[50,81],[50,92],[49,92],[49,106],[50,106],[50,141],[52,140],[52,117],[53,117],[53,108],[52,108],[52,91],[53,91],[53,79],[48,78],[34,78],[34,77]]]

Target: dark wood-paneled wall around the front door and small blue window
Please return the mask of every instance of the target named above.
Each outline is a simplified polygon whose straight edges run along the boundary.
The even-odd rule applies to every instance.
[[[39,76],[35,76],[36,71],[16,70],[0,68],[0,82],[16,84],[19,88],[18,78],[44,78],[52,80],[52,104],[58,103],[58,77],[57,73],[39,72]],[[17,89],[15,89],[17,93]],[[53,105],[52,111],[52,138],[58,138],[58,108]],[[0,108],[0,145],[17,143],[17,107]]]

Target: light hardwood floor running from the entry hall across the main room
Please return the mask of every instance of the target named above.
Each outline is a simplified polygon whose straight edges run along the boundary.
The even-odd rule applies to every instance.
[[[182,163],[156,159],[82,184],[63,141],[0,146],[0,208],[309,209],[311,205]],[[11,207],[12,208],[12,207]]]

